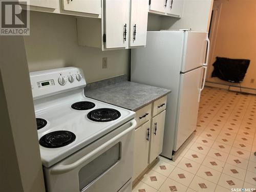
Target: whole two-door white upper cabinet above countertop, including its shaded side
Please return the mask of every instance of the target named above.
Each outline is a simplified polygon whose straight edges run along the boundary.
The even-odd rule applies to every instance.
[[[103,51],[145,46],[147,14],[148,0],[102,0],[101,20],[77,18],[78,45]]]

